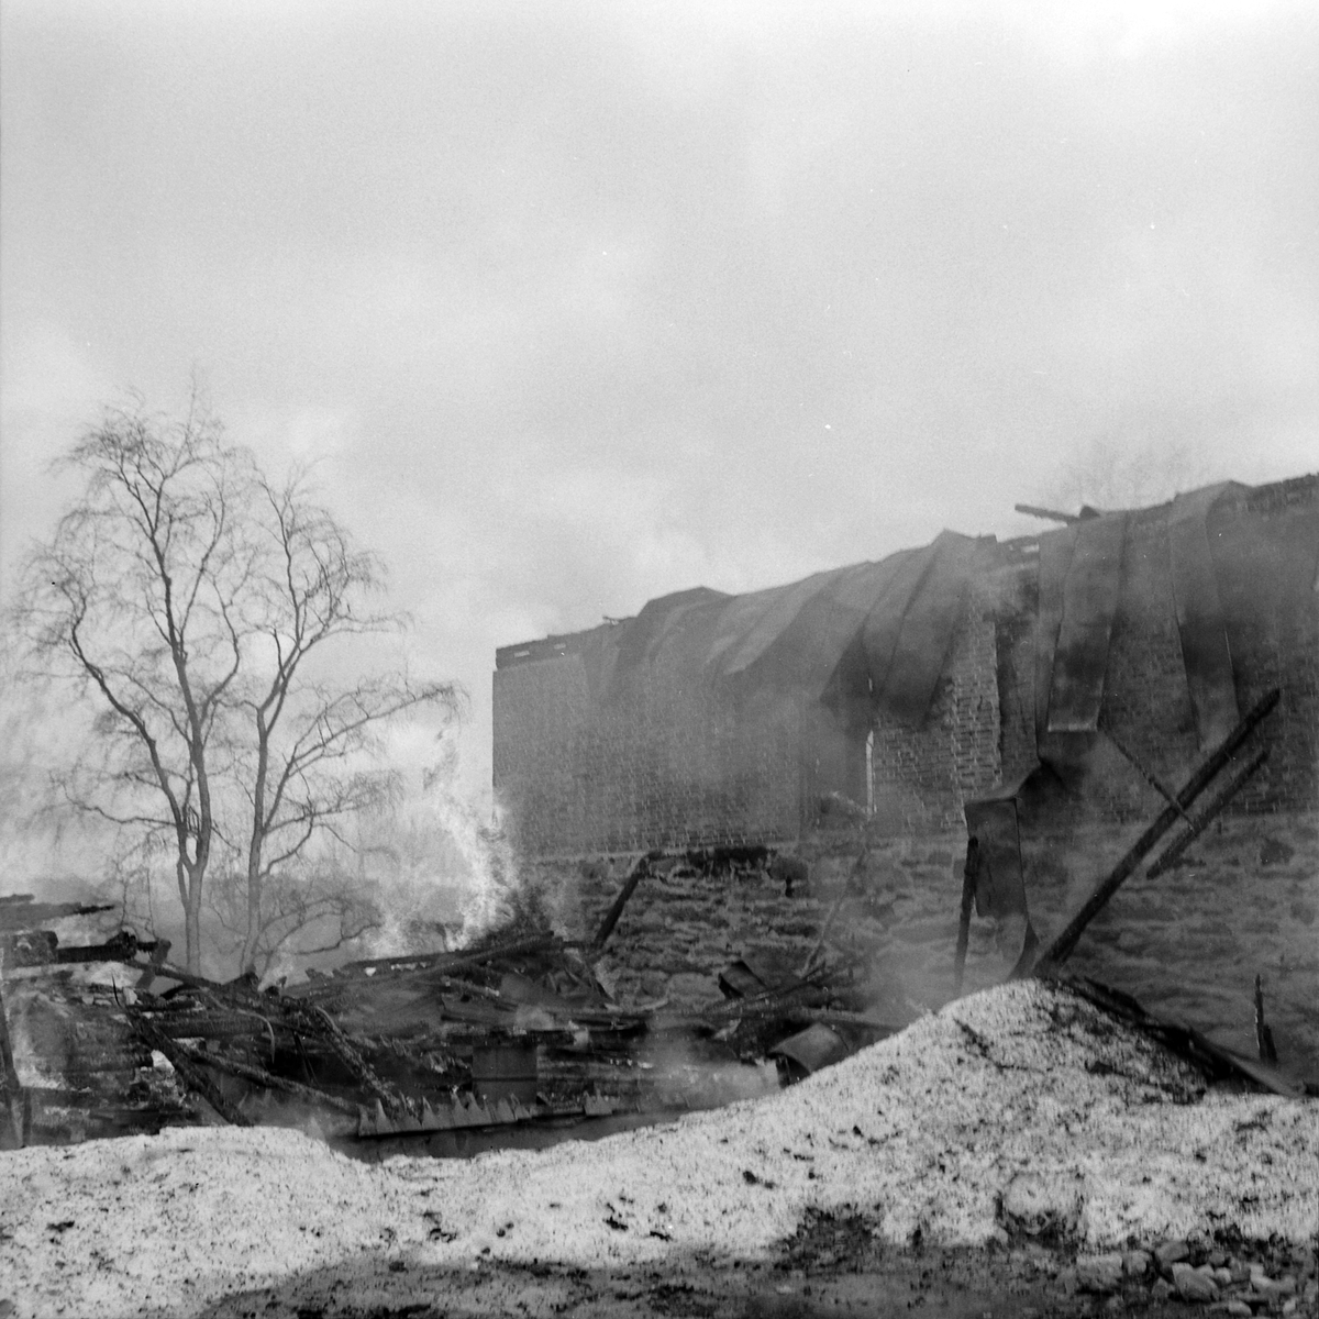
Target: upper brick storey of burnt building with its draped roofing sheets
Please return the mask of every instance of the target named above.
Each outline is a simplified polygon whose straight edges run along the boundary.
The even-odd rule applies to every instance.
[[[528,856],[787,843],[822,814],[960,827],[1037,765],[1091,815],[1142,810],[1282,691],[1246,810],[1319,801],[1316,479],[1235,483],[1029,539],[942,533],[749,595],[505,646],[495,787]],[[1117,748],[1124,751],[1119,751]]]

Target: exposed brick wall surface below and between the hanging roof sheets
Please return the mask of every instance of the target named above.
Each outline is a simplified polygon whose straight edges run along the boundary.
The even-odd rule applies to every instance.
[[[1229,493],[1210,518],[1239,707],[1274,685],[1283,692],[1268,724],[1268,770],[1237,811],[1319,809],[1316,487],[1302,477]],[[1129,517],[1100,719],[1144,766],[1179,783],[1202,751],[1167,513],[1165,505]],[[689,656],[637,669],[598,699],[576,653],[582,636],[506,648],[495,675],[495,778],[524,853],[795,839],[831,790],[863,805],[872,797],[881,832],[959,828],[967,797],[1016,781],[1035,761],[1038,566],[1030,551],[1030,542],[998,546],[968,591],[923,727],[882,710],[874,716],[869,785],[864,687],[836,716],[783,692],[739,704]],[[1092,739],[1084,764],[1086,815],[1126,820],[1157,809],[1154,790],[1109,740]]]

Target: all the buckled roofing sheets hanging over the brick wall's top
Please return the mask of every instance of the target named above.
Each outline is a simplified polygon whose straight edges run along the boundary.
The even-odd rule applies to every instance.
[[[1237,721],[1233,653],[1260,627],[1261,595],[1312,600],[1319,561],[1316,477],[1252,489],[1208,485],[1148,509],[1087,508],[1038,537],[1035,729],[1093,732],[1113,621],[1130,590],[1129,555],[1153,551],[1138,529],[1166,529],[1166,590],[1202,745]],[[1289,516],[1235,520],[1281,492]],[[652,600],[634,617],[584,633],[574,649],[592,696],[616,699],[648,669],[677,669],[735,694],[791,691],[828,702],[843,689],[918,727],[929,715],[971,582],[1004,561],[995,537],[942,532],[930,545],[799,582],[725,595],[707,587]],[[1162,553],[1162,551],[1159,551]],[[1171,620],[1170,620],[1171,621]]]

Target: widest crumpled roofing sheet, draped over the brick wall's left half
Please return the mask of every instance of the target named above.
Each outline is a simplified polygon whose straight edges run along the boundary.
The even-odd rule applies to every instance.
[[[992,538],[991,538],[992,539]],[[640,670],[699,674],[740,694],[827,699],[843,679],[918,725],[934,699],[976,562],[972,537],[943,532],[919,550],[728,596],[698,588],[652,600],[582,648],[599,700]]]

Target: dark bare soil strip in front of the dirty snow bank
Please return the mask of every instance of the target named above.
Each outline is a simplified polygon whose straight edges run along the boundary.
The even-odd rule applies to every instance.
[[[1258,1242],[1202,1242],[1190,1262],[1210,1250],[1232,1262],[1261,1262],[1270,1277],[1301,1283],[1316,1273],[1316,1250]],[[743,1319],[1050,1319],[1050,1316],[1140,1315],[1171,1319],[1224,1312],[1165,1295],[1157,1268],[1124,1279],[1113,1294],[1078,1289],[1076,1252],[1029,1239],[980,1250],[894,1249],[877,1242],[860,1217],[818,1215],[781,1244],[770,1261],[716,1258],[665,1261],[620,1270],[565,1265],[503,1265],[474,1261],[462,1270],[413,1266],[379,1256],[336,1270],[288,1279],[278,1287],[226,1298],[210,1319],[468,1319],[493,1315],[572,1315],[582,1319],[649,1315],[743,1316]],[[1246,1290],[1242,1286],[1242,1293]],[[1231,1291],[1223,1301],[1229,1299]],[[1254,1314],[1283,1314],[1283,1301],[1257,1304]],[[1314,1297],[1287,1311],[1319,1315]]]

